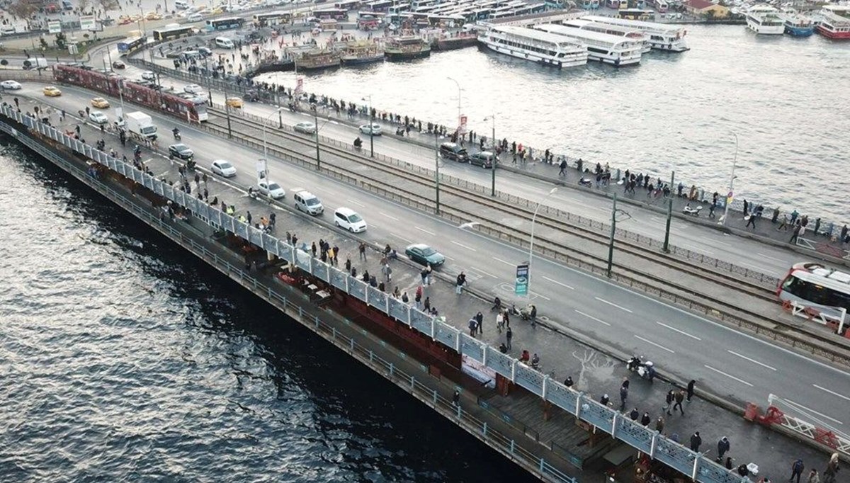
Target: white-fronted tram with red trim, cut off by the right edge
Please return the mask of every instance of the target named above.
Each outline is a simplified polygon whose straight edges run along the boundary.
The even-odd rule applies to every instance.
[[[850,311],[850,274],[817,263],[795,264],[779,283],[776,296],[837,320],[842,309]]]

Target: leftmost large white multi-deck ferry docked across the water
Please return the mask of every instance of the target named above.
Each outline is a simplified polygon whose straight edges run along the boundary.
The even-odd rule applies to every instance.
[[[587,64],[587,47],[569,38],[517,26],[490,26],[479,34],[490,50],[553,67]]]

